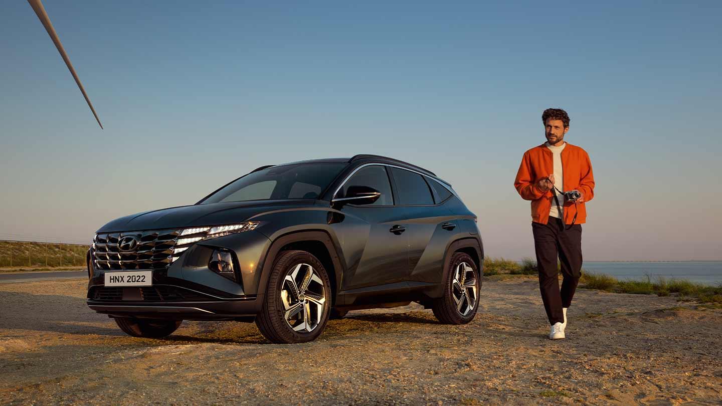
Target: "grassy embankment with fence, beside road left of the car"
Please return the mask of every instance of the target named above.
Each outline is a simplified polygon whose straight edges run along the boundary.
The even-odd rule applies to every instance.
[[[90,244],[0,240],[0,267],[83,267]]]

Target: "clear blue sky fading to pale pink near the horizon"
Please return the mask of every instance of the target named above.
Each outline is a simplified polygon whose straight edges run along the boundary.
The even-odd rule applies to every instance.
[[[88,242],[261,165],[428,168],[487,256],[534,256],[513,187],[545,108],[591,157],[593,260],[722,259],[722,3],[25,1],[0,12],[0,239]],[[633,3],[633,4],[631,4]]]

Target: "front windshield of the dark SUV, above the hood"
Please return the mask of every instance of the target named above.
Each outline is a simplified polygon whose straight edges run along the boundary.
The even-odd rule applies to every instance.
[[[199,202],[318,199],[347,163],[301,163],[274,166],[249,173]]]

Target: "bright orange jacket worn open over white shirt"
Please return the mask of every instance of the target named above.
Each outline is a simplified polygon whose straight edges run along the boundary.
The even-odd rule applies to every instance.
[[[562,171],[563,191],[577,189],[584,194],[584,202],[594,197],[594,176],[591,172],[589,155],[585,150],[567,142],[567,146],[562,150]],[[531,200],[531,220],[536,223],[547,224],[549,210],[552,209],[552,204],[556,204],[552,191],[541,191],[536,186],[550,173],[554,173],[554,157],[546,144],[524,152],[514,187],[523,199]],[[583,202],[576,204],[560,202],[560,204],[564,204],[565,224],[571,224],[575,214],[577,214],[575,224],[586,223],[586,205]]]

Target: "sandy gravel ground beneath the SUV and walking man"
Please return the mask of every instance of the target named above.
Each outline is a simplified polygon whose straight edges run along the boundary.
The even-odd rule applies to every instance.
[[[272,345],[236,322],[128,337],[85,306],[85,285],[0,285],[0,403],[722,404],[722,310],[674,298],[578,290],[551,341],[536,280],[485,278],[471,324],[413,304]]]

